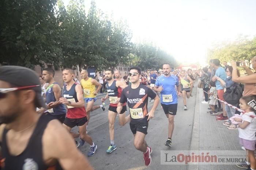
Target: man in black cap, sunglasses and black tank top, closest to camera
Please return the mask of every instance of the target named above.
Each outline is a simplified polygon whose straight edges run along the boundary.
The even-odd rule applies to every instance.
[[[17,81],[17,75],[22,81]],[[35,111],[35,107],[45,106],[34,71],[1,66],[0,103],[2,169],[92,169],[59,120]]]

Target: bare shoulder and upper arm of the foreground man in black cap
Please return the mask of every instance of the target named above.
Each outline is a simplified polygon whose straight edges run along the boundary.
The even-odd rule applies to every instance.
[[[58,120],[48,123],[42,144],[44,160],[57,159],[65,170],[93,169],[84,155],[76,149],[74,139]]]

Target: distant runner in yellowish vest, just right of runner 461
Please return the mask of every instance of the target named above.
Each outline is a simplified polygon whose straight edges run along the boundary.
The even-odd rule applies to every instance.
[[[185,75],[185,70],[181,71],[180,84],[181,84],[181,90],[182,90],[184,110],[188,110],[186,96],[189,99],[189,97],[190,97],[190,86],[191,86],[191,84],[193,84],[193,80],[189,76]]]

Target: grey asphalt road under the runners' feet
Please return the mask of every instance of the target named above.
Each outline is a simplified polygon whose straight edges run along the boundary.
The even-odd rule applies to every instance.
[[[108,107],[109,100],[106,101],[106,110],[103,112],[101,108],[91,112],[90,122],[87,128],[88,134],[97,144],[98,149],[93,157],[88,157],[89,162],[96,170],[141,170],[141,169],[187,169],[186,165],[161,165],[160,151],[161,150],[189,150],[191,143],[191,134],[193,127],[193,116],[196,102],[196,87],[193,88],[193,97],[187,100],[188,110],[184,111],[182,97],[178,98],[178,111],[174,119],[174,132],[172,137],[172,148],[164,145],[167,140],[168,120],[159,103],[155,116],[150,120],[148,126],[148,134],[146,142],[152,148],[151,165],[144,166],[143,153],[136,150],[133,146],[133,134],[130,130],[129,123],[121,127],[118,123],[118,116],[114,125],[115,144],[117,150],[111,154],[107,154],[106,150],[110,145],[109,128],[108,128]],[[95,104],[101,104],[102,96],[97,97]],[[151,109],[153,102],[148,103],[148,110]],[[128,115],[128,111],[126,115]],[[78,131],[74,128],[73,131]],[[89,144],[79,148],[80,151],[87,157]]]

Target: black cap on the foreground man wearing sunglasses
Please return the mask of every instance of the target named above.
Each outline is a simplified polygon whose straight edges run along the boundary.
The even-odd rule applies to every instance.
[[[17,79],[18,76],[22,77],[22,80]],[[35,106],[45,107],[44,100],[41,96],[41,83],[37,73],[29,68],[20,66],[1,66],[0,67],[0,80],[8,82],[15,87],[33,86],[39,85],[37,87],[31,87],[28,89],[34,90],[36,92],[35,96]]]

